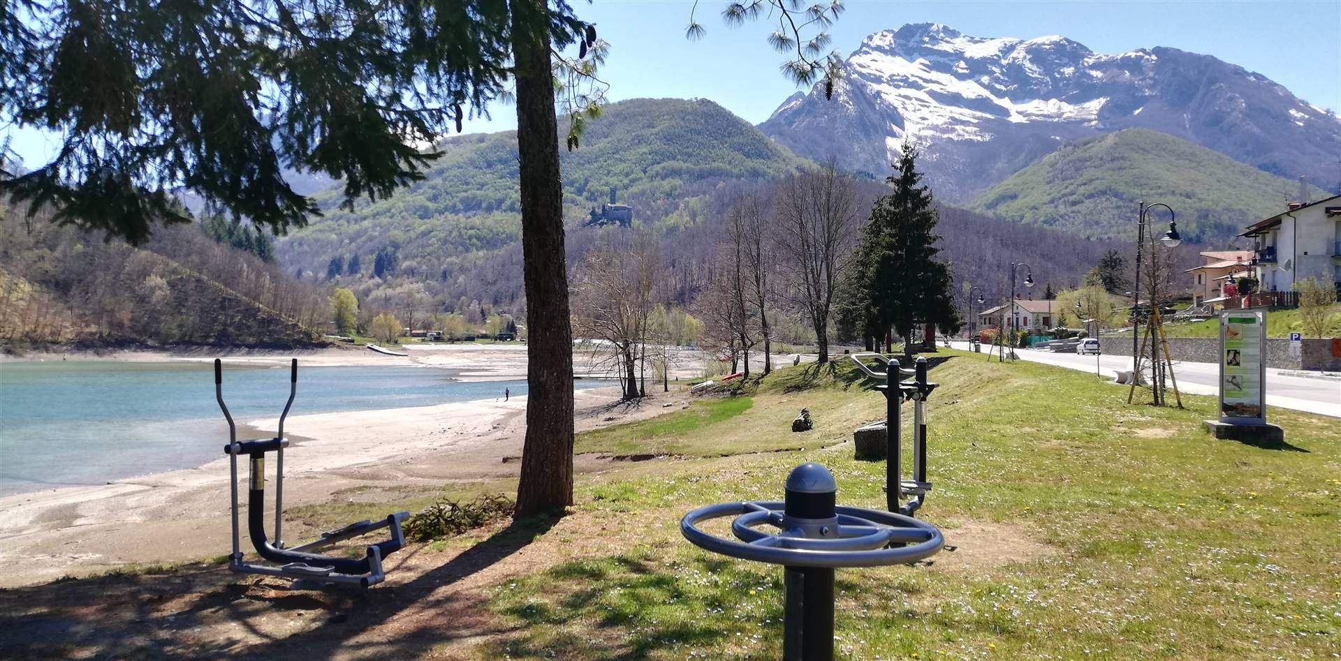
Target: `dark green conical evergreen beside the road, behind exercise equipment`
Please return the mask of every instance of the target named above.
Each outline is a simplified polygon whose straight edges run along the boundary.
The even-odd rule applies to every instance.
[[[839,318],[864,335],[878,331],[877,341],[890,330],[904,338],[904,353],[911,357],[919,323],[955,333],[960,319],[949,264],[936,259],[940,213],[931,190],[921,185],[912,143],[904,143],[894,169],[897,173],[885,178],[893,190],[876,200],[862,231]]]

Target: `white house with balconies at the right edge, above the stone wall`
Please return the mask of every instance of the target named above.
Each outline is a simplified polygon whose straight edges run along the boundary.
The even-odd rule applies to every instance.
[[[1239,236],[1255,243],[1251,268],[1261,291],[1294,291],[1307,278],[1341,288],[1341,196],[1290,202]]]

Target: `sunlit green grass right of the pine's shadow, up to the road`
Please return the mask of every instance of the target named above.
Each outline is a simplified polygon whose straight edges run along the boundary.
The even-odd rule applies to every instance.
[[[1204,434],[1211,398],[1185,397],[1187,410],[1125,405],[1125,389],[1084,373],[970,354],[932,375],[944,385],[929,412],[935,489],[921,514],[960,548],[932,567],[841,570],[841,658],[1341,652],[1334,418],[1271,412],[1290,446],[1262,449]],[[805,382],[813,387],[795,390]],[[818,378],[782,370],[754,390],[739,413],[727,416],[744,406],[730,400],[707,404],[693,413],[701,426],[688,416],[664,420],[658,429],[668,434],[648,442],[720,448],[734,433],[762,433],[758,418],[779,400],[787,410],[814,402],[817,422],[845,402],[876,416],[882,405],[841,365]],[[606,436],[617,436],[621,450],[641,437]],[[711,555],[681,539],[677,526],[701,504],[779,499],[786,472],[806,460],[834,472],[841,503],[881,505],[884,464],[854,461],[850,445],[585,481],[577,508],[624,550],[495,587],[491,609],[515,634],[475,652],[778,658],[780,568]]]

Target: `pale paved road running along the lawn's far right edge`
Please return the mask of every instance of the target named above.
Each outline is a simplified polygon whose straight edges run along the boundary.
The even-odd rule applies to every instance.
[[[951,342],[955,349],[968,350],[968,342]],[[986,346],[983,350],[986,351]],[[1093,373],[1096,357],[1077,354],[1054,354],[1051,351],[1035,351],[1033,349],[1016,349],[1015,353],[1025,361],[1042,362],[1067,367],[1073,370]],[[1130,370],[1132,358],[1125,355],[1098,357],[1100,374],[1113,377],[1116,370]],[[1177,377],[1179,390],[1191,394],[1218,393],[1216,386],[1220,379],[1219,366],[1210,362],[1173,361],[1173,374]],[[1341,418],[1341,379],[1297,377],[1293,371],[1266,370],[1266,404],[1282,409],[1294,409],[1307,413],[1320,413]]]

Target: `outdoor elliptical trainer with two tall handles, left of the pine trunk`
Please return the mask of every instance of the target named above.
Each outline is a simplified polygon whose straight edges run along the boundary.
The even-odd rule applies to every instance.
[[[401,534],[401,523],[409,518],[409,512],[396,512],[380,522],[362,520],[345,526],[343,528],[322,532],[320,539],[308,542],[294,548],[284,548],[283,522],[284,522],[284,448],[288,438],[284,438],[284,418],[288,417],[288,408],[294,405],[294,396],[298,393],[298,359],[295,358],[288,373],[288,401],[284,402],[284,412],[279,414],[279,433],[274,438],[257,438],[253,441],[239,441],[237,426],[233,417],[224,405],[224,366],[215,359],[215,398],[219,408],[228,420],[228,445],[224,453],[228,455],[232,471],[232,515],[233,515],[233,552],[228,556],[228,568],[243,574],[264,574],[268,577],[283,577],[291,579],[304,579],[318,583],[338,583],[357,587],[367,587],[381,583],[386,574],[382,570],[382,560],[388,555],[400,551],[405,546],[405,536]],[[266,539],[266,453],[275,453],[275,542]],[[251,480],[247,491],[247,535],[252,546],[261,558],[275,564],[257,564],[243,562],[241,542],[237,528],[237,457],[247,455],[251,457]],[[363,558],[339,558],[320,555],[311,551],[334,544],[350,538],[366,535],[374,530],[390,528],[392,536],[385,542],[378,542],[367,547]]]

